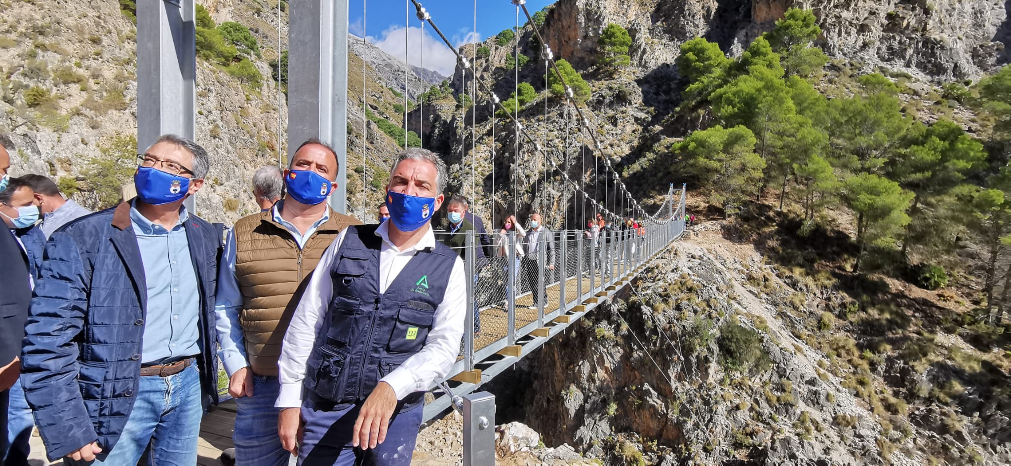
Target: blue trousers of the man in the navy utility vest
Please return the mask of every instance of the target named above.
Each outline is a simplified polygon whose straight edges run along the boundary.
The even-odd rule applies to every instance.
[[[402,406],[399,403],[389,420],[386,440],[375,449],[362,450],[351,446],[361,403],[325,411],[306,401],[301,408],[305,427],[298,448],[299,466],[409,466],[425,403],[407,410]]]

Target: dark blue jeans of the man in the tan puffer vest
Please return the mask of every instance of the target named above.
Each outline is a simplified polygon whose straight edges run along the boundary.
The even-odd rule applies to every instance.
[[[284,466],[293,459],[277,435],[277,377],[253,376],[253,396],[236,399],[236,466]]]

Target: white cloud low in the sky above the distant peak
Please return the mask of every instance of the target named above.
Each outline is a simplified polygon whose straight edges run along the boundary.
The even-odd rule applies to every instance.
[[[352,32],[354,32],[354,29],[352,29]],[[471,39],[475,36],[480,39],[480,34],[475,34],[474,32],[463,33],[461,31],[461,34],[455,34],[452,37],[457,48],[464,43],[470,43]],[[404,43],[404,37],[409,41],[409,45]],[[423,31],[421,27],[403,27],[394,24],[382,31],[380,37],[370,35],[367,39],[375,43],[383,52],[400,61],[403,61],[404,51],[409,48],[407,63],[417,67],[435,70],[444,76],[452,76],[453,71],[456,69],[456,55],[446,46],[442,38],[433,35],[431,28],[428,27]]]

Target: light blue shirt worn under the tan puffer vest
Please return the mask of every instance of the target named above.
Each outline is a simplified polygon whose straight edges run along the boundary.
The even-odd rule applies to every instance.
[[[284,200],[277,201],[272,209],[274,221],[284,226],[294,238],[298,249],[305,247],[305,242],[312,238],[319,225],[330,219],[330,208],[318,220],[313,222],[305,235],[289,221],[281,218]],[[239,313],[243,309],[243,293],[239,289],[239,278],[236,277],[236,232],[229,229],[224,243],[224,253],[221,254],[221,264],[217,268],[217,295],[214,299],[214,314],[217,316],[217,357],[224,365],[224,371],[232,377],[239,369],[249,366],[246,359],[246,338],[239,323]]]

